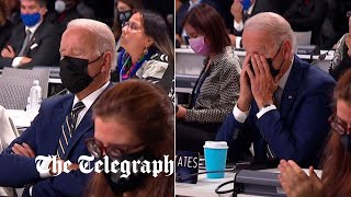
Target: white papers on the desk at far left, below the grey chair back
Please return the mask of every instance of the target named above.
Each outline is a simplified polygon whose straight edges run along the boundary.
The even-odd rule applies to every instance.
[[[27,113],[19,109],[7,109],[9,117],[12,119],[16,128],[27,128],[31,126],[32,120],[37,113]]]

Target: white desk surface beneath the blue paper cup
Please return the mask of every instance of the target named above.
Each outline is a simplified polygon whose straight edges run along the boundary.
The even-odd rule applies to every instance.
[[[278,169],[268,169],[262,171],[279,173]],[[304,171],[305,173],[308,174],[308,169],[304,169]],[[315,171],[315,172],[319,177],[321,176],[321,171]],[[218,185],[228,181],[233,181],[234,176],[235,176],[235,173],[225,173],[224,178],[210,179],[206,177],[206,174],[201,174],[199,175],[197,184],[176,183],[176,195],[194,196],[194,197],[218,197],[218,195],[215,193],[215,189],[218,187]],[[224,186],[223,188],[220,188],[220,190],[227,190],[230,188],[233,188],[233,184],[228,184]],[[226,196],[230,196],[230,194],[224,194],[220,196],[226,197]],[[252,196],[252,195],[240,194],[238,196]]]

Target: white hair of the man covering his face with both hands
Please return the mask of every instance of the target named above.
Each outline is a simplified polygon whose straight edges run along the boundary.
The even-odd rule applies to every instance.
[[[296,38],[292,26],[281,15],[273,12],[262,12],[253,15],[245,23],[245,30],[257,32],[267,32],[272,36],[275,47],[278,48],[283,40],[290,40],[292,53],[296,53]]]

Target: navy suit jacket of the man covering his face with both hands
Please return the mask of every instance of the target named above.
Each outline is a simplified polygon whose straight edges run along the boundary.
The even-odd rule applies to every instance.
[[[259,109],[252,102],[245,123],[238,123],[230,113],[216,140],[227,141],[234,154],[246,151],[253,142],[254,159],[265,160],[267,139],[278,159],[294,160],[303,166],[316,164],[329,131],[333,86],[335,80],[327,72],[295,56],[280,108],[258,119]]]

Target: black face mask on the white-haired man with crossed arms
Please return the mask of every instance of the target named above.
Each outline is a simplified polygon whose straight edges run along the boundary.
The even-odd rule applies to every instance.
[[[101,71],[94,77],[90,77],[88,74],[88,65],[98,61],[101,57],[102,55],[95,60],[89,62],[88,59],[65,56],[59,62],[59,77],[61,78],[64,86],[66,86],[66,89],[72,94],[77,94],[89,86]]]

